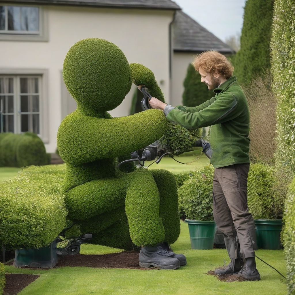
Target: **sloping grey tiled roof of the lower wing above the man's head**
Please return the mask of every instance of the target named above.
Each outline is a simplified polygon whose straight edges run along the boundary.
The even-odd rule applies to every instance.
[[[174,21],[174,51],[217,50],[234,51],[182,11],[177,11]]]

